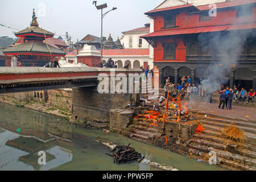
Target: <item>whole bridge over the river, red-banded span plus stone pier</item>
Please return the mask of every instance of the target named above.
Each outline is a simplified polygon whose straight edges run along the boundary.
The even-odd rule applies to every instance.
[[[128,104],[139,105],[140,94],[135,92],[135,88],[138,89],[138,81],[135,81],[134,77],[131,78],[130,73],[137,77],[142,70],[3,67],[0,68],[0,94],[72,88],[71,121],[109,128],[110,110],[123,109]],[[133,90],[130,84],[133,84]],[[139,88],[142,88],[141,86],[139,84]],[[98,88],[104,88],[104,92],[99,92]],[[118,93],[118,90],[122,92]]]

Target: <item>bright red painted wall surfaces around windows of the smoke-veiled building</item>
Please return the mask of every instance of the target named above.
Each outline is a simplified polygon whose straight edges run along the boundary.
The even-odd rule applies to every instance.
[[[256,17],[256,7],[253,7],[253,14],[251,16],[236,17],[237,11],[235,9],[225,9],[217,10],[217,16],[213,16],[212,20],[199,20],[199,14],[187,14],[187,11],[180,12],[176,15],[176,26],[177,28],[166,29],[164,27],[164,19],[162,15],[156,15],[154,18],[154,31],[166,31],[175,30],[180,28],[192,28],[192,27],[204,27],[204,26],[216,26],[218,24],[232,24],[236,23],[248,23],[255,22]],[[162,43],[165,42],[175,42],[176,41],[176,59],[175,60],[164,60],[163,46]],[[156,38],[156,47],[154,48],[154,61],[186,61],[186,49],[184,46],[182,36],[164,36]]]

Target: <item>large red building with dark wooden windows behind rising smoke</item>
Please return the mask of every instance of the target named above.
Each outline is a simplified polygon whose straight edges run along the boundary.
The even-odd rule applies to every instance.
[[[177,83],[186,75],[194,83],[230,79],[231,87],[256,89],[255,0],[216,3],[216,15],[210,13],[214,5],[164,3],[174,4],[164,1],[145,13],[154,19],[154,32],[141,36],[154,47],[161,87],[168,76]]]

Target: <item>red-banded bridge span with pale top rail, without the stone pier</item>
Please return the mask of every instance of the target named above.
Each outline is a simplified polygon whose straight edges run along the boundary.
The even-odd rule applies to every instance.
[[[110,75],[113,68],[0,68],[0,93],[28,92],[61,88],[97,86],[100,73]],[[118,73],[141,73],[141,69],[114,69]]]

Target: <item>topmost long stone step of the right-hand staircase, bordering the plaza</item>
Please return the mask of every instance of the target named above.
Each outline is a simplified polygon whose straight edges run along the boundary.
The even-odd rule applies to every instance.
[[[196,115],[193,115],[193,118],[199,119],[199,120],[202,119],[202,117],[198,117]],[[245,127],[251,127],[256,129],[255,121],[246,122],[246,121],[236,121],[235,119],[221,119],[221,118],[212,118],[212,117],[204,117],[204,120],[210,121],[210,122],[226,123],[226,124],[234,123],[234,125],[237,125],[237,126],[245,126]]]

